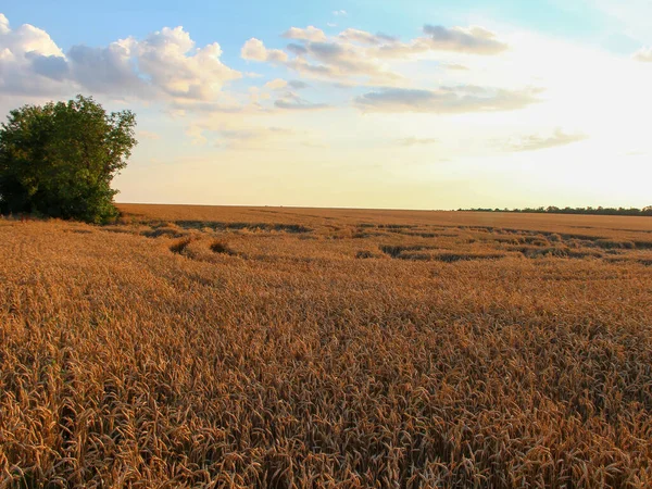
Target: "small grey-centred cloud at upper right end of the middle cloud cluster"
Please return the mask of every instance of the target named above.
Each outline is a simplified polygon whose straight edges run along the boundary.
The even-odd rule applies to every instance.
[[[507,45],[497,40],[496,34],[478,26],[449,29],[440,25],[425,25],[424,34],[428,36],[430,48],[434,50],[498,54],[507,49]]]

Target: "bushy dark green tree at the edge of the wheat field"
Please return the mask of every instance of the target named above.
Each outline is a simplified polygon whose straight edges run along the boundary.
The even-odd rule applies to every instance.
[[[0,129],[0,212],[105,223],[117,216],[111,181],[136,145],[130,111],[90,97],[10,112]]]

